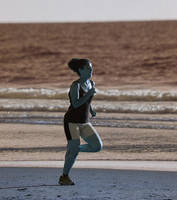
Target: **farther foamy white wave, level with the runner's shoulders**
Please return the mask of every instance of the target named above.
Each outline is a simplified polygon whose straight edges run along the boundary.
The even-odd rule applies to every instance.
[[[68,99],[68,89],[1,88],[0,98],[20,99]],[[119,90],[96,89],[95,100],[107,101],[176,101],[176,90]]]

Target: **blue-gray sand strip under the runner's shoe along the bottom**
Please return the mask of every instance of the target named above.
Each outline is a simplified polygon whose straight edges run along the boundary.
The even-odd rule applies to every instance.
[[[57,168],[0,168],[0,199],[177,199],[175,172],[73,168],[76,185],[59,186],[61,173]]]

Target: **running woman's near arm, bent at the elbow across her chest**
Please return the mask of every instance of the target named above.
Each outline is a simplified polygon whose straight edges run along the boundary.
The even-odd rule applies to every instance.
[[[80,84],[77,82],[74,82],[71,85],[70,88],[70,99],[71,99],[71,104],[74,108],[78,108],[84,103],[88,101],[88,99],[94,95],[95,93],[95,88],[90,89],[85,96],[79,97],[79,90],[80,90]]]

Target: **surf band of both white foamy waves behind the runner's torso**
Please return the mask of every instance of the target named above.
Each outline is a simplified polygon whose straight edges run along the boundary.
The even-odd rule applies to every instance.
[[[175,90],[97,89],[92,105],[99,112],[177,113]],[[1,88],[1,111],[65,112],[68,89]]]

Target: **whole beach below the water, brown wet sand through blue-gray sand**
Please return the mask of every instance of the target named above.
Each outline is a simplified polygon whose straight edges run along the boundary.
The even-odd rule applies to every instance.
[[[4,116],[2,114],[5,113],[1,113]],[[37,112],[29,115],[34,114],[39,116]],[[48,115],[61,117],[63,113]],[[116,113],[98,113],[97,117],[110,116],[136,120],[149,117],[147,114]],[[163,119],[174,117],[153,116]],[[2,200],[177,198],[176,130],[96,126],[103,140],[103,151],[80,153],[71,172],[76,185],[62,187],[57,183],[66,151],[62,125],[1,123],[0,129]]]

